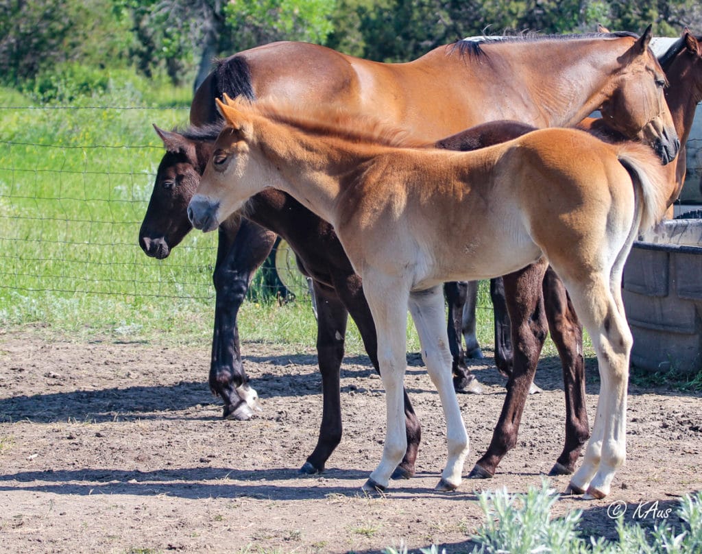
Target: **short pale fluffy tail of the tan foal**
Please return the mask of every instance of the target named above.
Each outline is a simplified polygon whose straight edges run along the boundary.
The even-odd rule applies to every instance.
[[[650,229],[663,218],[668,208],[670,183],[663,170],[661,160],[651,148],[639,143],[622,143],[619,145],[617,158],[629,173],[635,187],[637,232]]]

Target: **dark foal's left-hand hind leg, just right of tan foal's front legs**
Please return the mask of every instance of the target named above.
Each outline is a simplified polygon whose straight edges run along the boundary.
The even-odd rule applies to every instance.
[[[517,444],[524,404],[548,333],[541,291],[545,270],[546,262],[542,259],[503,277],[512,324],[514,365],[500,419],[486,453],[470,472],[471,478],[485,479],[495,475],[505,454]]]

